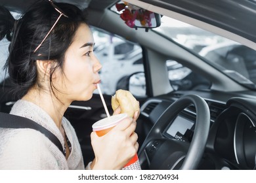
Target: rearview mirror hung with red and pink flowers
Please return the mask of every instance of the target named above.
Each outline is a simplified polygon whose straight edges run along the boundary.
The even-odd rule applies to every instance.
[[[131,5],[130,3],[120,1],[116,3],[116,9],[121,19],[131,28],[145,28],[148,31],[148,29],[161,25],[160,14]]]

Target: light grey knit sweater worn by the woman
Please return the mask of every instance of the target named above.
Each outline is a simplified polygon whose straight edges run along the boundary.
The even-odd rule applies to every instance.
[[[47,112],[39,106],[19,100],[12,107],[11,114],[30,118],[42,125],[56,135],[64,147],[64,137],[60,130]],[[74,128],[66,118],[62,118],[62,125],[72,144],[68,160],[53,142],[39,131],[0,128],[0,169],[85,169]]]

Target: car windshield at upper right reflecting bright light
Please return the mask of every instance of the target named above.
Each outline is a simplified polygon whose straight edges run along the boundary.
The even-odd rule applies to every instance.
[[[161,26],[154,29],[205,58],[240,84],[256,88],[256,51],[193,25],[161,17]]]

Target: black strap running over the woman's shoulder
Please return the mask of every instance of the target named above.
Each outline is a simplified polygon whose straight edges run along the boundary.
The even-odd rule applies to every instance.
[[[16,116],[13,114],[7,114],[4,112],[0,112],[0,127],[15,128],[15,129],[30,128],[30,129],[35,129],[37,131],[40,131],[46,137],[48,137],[48,139],[50,139],[58,147],[58,149],[64,154],[62,144],[60,143],[58,138],[53,133],[51,133],[51,131],[49,131],[45,127],[37,124],[33,120],[24,118],[22,116]]]

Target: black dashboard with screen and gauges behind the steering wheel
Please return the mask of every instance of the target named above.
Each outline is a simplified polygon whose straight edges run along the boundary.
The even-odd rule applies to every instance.
[[[256,98],[237,93],[232,97],[220,92],[209,94],[202,91],[194,94],[205,99],[211,114],[209,136],[198,169],[255,169]],[[154,125],[164,114],[165,108],[182,95],[186,95],[186,92],[148,99],[141,107],[141,114],[148,124]],[[189,144],[195,124],[196,108],[191,105],[169,120],[161,132],[163,139]]]

